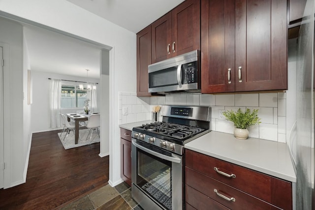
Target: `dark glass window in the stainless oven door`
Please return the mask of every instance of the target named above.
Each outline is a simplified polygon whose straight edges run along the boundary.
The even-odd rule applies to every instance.
[[[172,209],[172,163],[137,149],[136,184],[165,209]]]

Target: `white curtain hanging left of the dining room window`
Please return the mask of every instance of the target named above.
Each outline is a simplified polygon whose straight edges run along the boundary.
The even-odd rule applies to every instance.
[[[61,104],[61,80],[51,79],[49,90],[50,103],[50,127],[61,127],[60,104]]]

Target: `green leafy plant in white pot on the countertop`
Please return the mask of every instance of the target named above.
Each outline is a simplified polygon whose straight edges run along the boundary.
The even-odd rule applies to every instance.
[[[234,136],[238,139],[247,139],[249,135],[249,131],[247,127],[256,125],[261,123],[260,118],[258,118],[258,109],[251,110],[246,109],[243,112],[240,108],[237,112],[225,111],[222,115],[225,117],[226,120],[232,121],[234,123]]]

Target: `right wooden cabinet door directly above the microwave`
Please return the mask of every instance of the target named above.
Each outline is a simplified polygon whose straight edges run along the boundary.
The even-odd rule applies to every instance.
[[[200,50],[200,0],[185,0],[172,10],[172,57]]]

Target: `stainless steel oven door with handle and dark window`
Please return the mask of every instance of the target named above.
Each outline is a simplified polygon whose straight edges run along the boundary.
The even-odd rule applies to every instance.
[[[132,198],[143,209],[183,209],[182,156],[132,139],[131,165]]]

